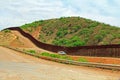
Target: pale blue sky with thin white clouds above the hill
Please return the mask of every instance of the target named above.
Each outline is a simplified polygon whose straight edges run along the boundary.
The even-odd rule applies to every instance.
[[[68,16],[120,27],[120,0],[0,0],[0,30]]]

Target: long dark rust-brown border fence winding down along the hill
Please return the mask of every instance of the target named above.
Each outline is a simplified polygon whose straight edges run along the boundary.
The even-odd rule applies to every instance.
[[[30,34],[24,32],[19,27],[7,28],[9,30],[19,31],[24,37],[31,40],[37,47],[49,50],[52,52],[65,51],[68,55],[76,56],[96,56],[96,57],[118,57],[120,58],[120,45],[94,45],[94,46],[79,46],[79,47],[64,47],[45,44],[36,40]]]

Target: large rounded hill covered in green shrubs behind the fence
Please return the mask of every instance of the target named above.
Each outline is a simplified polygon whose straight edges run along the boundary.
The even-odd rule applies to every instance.
[[[81,17],[35,21],[21,28],[29,33],[42,27],[40,42],[58,46],[120,44],[120,28]]]

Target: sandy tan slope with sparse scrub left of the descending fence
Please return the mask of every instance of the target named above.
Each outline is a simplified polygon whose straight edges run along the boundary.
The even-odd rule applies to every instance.
[[[37,48],[29,39],[18,31],[3,30],[0,32],[0,45],[7,45],[15,48]]]

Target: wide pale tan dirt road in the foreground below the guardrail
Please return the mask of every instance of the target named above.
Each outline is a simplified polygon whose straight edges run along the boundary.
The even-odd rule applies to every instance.
[[[0,80],[119,80],[120,72],[38,59],[0,47]]]

